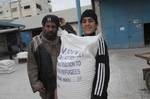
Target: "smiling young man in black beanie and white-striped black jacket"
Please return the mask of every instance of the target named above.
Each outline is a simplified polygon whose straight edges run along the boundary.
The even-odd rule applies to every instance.
[[[91,9],[85,10],[81,15],[81,26],[84,36],[96,34],[98,20],[97,15]],[[92,86],[91,99],[107,99],[107,87],[109,82],[109,56],[103,37],[99,41],[99,49],[96,55],[95,76]]]

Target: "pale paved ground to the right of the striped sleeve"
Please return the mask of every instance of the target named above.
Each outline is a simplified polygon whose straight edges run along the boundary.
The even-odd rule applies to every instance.
[[[134,56],[150,48],[110,50],[111,77],[109,99],[150,99],[143,81],[142,68],[146,61]]]

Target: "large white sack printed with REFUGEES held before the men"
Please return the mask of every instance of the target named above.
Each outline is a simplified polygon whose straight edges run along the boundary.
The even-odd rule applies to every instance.
[[[61,36],[57,63],[58,99],[91,98],[99,36]]]

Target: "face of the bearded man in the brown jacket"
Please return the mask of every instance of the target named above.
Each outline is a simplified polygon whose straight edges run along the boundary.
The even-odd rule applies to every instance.
[[[54,22],[46,22],[43,26],[43,32],[45,36],[55,37],[57,36],[57,26]]]

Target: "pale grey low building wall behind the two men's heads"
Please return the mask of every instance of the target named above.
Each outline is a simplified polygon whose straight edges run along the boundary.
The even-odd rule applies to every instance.
[[[83,12],[85,9],[90,9],[91,6],[84,6],[81,8],[81,12]],[[56,12],[51,12],[51,13],[44,13],[41,15],[36,15],[32,17],[26,17],[26,18],[20,18],[17,20],[14,20],[15,23],[22,23],[25,25],[24,30],[31,30],[31,29],[36,29],[42,27],[41,22],[42,19],[45,15],[47,14],[54,14],[59,17],[63,17],[66,22],[73,23],[71,24],[73,28],[77,31],[77,11],[75,8],[68,9],[68,10],[61,10],[61,11],[56,11]],[[38,20],[38,21],[37,21]]]

